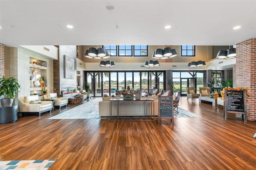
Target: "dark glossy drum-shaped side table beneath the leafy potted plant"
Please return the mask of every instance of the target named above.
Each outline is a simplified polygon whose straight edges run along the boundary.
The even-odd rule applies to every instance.
[[[0,124],[18,120],[18,105],[0,107]]]

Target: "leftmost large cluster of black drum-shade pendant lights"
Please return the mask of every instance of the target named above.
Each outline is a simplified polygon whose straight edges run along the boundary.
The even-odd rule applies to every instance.
[[[104,48],[94,48],[90,47],[86,50],[84,57],[90,59],[106,59],[110,57],[109,51],[105,50]]]

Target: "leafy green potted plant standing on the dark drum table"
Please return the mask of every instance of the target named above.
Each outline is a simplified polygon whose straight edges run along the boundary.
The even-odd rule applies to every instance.
[[[20,84],[15,77],[9,77],[6,79],[3,75],[3,78],[0,79],[0,96],[3,96],[4,99],[1,99],[2,106],[11,106],[13,99],[19,92]]]

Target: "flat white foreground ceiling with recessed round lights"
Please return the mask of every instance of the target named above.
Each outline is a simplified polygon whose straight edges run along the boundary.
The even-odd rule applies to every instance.
[[[256,0],[0,0],[0,26],[10,47],[236,45],[256,38]]]

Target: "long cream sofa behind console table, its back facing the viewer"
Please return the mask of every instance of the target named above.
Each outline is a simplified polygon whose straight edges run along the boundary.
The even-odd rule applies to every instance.
[[[115,97],[118,99],[120,97]],[[144,98],[144,97],[141,97]],[[150,96],[148,98],[154,99],[154,115],[158,115],[158,96]],[[102,97],[102,101],[99,102],[99,116],[110,116],[110,99],[112,97]],[[112,103],[112,116],[117,116],[117,102]],[[153,106],[152,106],[153,109]],[[150,115],[151,107],[150,102],[147,103],[147,115]],[[144,116],[144,103],[143,102],[120,102],[119,103],[119,116]]]

